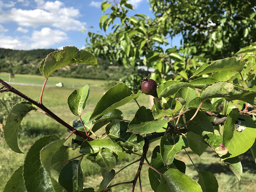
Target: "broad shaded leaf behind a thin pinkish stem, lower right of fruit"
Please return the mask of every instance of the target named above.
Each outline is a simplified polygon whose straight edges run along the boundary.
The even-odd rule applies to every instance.
[[[185,113],[185,120],[186,122],[192,118],[192,116],[195,114],[196,109],[189,110]],[[209,121],[206,114],[202,111],[198,111],[194,119],[190,123],[186,125],[186,128],[195,134],[204,136],[208,133],[213,133],[214,129],[212,126],[212,123]]]

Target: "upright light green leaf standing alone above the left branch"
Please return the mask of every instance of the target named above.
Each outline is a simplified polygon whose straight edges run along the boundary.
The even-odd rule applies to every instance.
[[[68,96],[68,107],[74,115],[81,115],[85,108],[89,92],[89,86],[85,85],[84,87],[75,89],[70,96]]]

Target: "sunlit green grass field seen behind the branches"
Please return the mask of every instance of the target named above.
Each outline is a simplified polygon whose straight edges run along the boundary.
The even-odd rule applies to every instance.
[[[15,75],[15,82],[22,83],[34,83],[34,84],[43,84],[44,78],[41,76],[34,75]],[[9,74],[0,73],[0,78],[8,81]],[[103,96],[104,92],[107,90],[104,89],[104,81],[100,80],[80,80],[80,79],[71,79],[71,78],[58,78],[50,77],[48,83],[54,85],[55,83],[62,82],[64,87],[46,87],[44,91],[43,103],[48,107],[52,112],[56,113],[60,118],[69,122],[71,120],[77,119],[74,116],[67,104],[67,98],[69,94],[74,90],[74,88],[80,88],[85,84],[88,84],[90,87],[90,95],[88,101],[86,102],[86,108],[84,112],[93,111],[97,102]],[[74,85],[74,86],[73,86]],[[20,92],[28,95],[34,100],[39,100],[40,92],[42,87],[39,86],[22,86],[22,85],[12,85],[14,88],[18,89]],[[72,88],[74,87],[74,88]],[[92,88],[91,88],[92,87]],[[4,93],[3,93],[4,94]],[[0,94],[0,97],[2,94]],[[142,94],[138,98],[138,102],[141,106],[148,107],[149,97],[145,94]],[[138,110],[138,106],[132,100],[128,104],[119,108],[123,112],[125,119],[131,120]],[[99,130],[96,134],[100,135],[104,130]],[[8,148],[3,137],[0,137],[0,191],[4,190],[4,186],[10,176],[14,171],[20,167],[28,152],[30,146],[40,137],[48,134],[56,134],[60,138],[65,138],[68,136],[66,128],[58,124],[48,116],[41,114],[40,112],[30,112],[25,116],[22,124],[20,126],[20,133],[18,135],[18,144],[20,149],[24,154],[17,154]],[[71,141],[71,138],[68,142]],[[156,145],[159,144],[159,140],[153,142],[150,145],[148,152],[148,160],[150,161],[150,155]],[[219,184],[219,192],[254,192],[256,188],[256,166],[250,152],[246,152],[245,155],[240,157],[240,160],[243,165],[243,176],[241,182],[238,181],[236,176],[222,163],[219,163],[218,156],[209,148],[207,152],[202,154],[202,156],[197,156],[190,149],[187,150],[190,157],[196,164],[196,167],[199,171],[211,171],[217,178]],[[79,155],[78,151],[70,150],[70,158]],[[136,155],[127,155],[127,158],[123,159],[117,166],[116,171],[118,171],[123,166],[129,164],[130,162],[138,159]],[[198,180],[198,174],[190,162],[187,154],[182,151],[176,155],[176,158],[182,160],[186,163],[186,174],[192,177],[195,181]],[[86,158],[84,158],[86,159]],[[133,164],[126,168],[123,172],[117,174],[114,179],[113,184],[118,182],[130,181],[134,178],[136,171],[138,169],[138,163]],[[82,161],[82,170],[84,173],[84,187],[98,187],[102,180],[100,174],[100,168],[87,160]],[[142,186],[143,191],[151,192],[150,184],[148,181],[148,168],[143,166],[142,168]],[[120,185],[112,189],[113,192],[128,192],[131,190],[131,185]],[[139,184],[136,184],[136,192],[139,192]]]

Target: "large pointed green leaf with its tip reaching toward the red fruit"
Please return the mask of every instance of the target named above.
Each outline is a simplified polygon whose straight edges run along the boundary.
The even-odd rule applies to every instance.
[[[113,109],[128,103],[132,99],[138,98],[141,93],[142,92],[132,94],[126,84],[118,83],[116,86],[110,88],[110,90],[108,90],[104,96],[102,96],[94,108],[90,121],[93,121],[103,114],[106,114]]]

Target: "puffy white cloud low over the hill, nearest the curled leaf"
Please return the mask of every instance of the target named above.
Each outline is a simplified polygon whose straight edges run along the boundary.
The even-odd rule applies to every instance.
[[[60,43],[66,40],[67,34],[60,30],[52,30],[48,27],[42,28],[41,31],[34,31],[31,37],[32,49],[36,48],[46,48],[54,45],[55,43]]]

